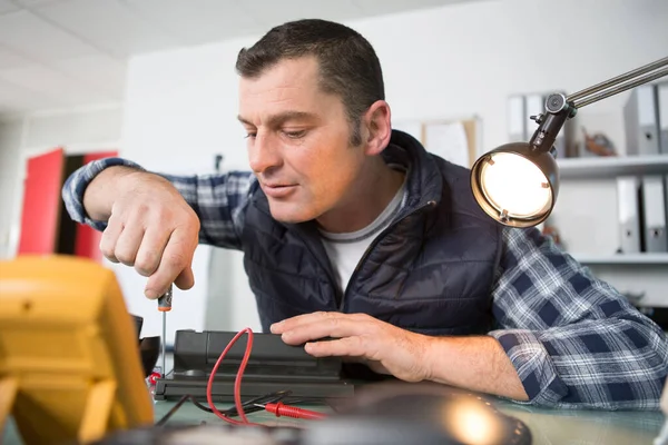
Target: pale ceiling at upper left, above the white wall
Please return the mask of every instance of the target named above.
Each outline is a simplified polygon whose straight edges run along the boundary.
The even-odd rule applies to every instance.
[[[465,0],[0,0],[0,116],[120,102],[129,56]]]

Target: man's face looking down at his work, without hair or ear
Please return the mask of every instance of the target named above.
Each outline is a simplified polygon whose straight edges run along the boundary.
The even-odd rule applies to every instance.
[[[342,207],[364,162],[350,146],[342,100],[318,86],[315,58],[283,60],[240,79],[239,120],[248,159],[274,218],[302,222]]]

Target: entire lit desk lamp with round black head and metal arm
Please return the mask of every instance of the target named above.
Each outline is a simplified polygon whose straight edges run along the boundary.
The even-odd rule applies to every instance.
[[[570,96],[548,96],[544,113],[529,142],[511,142],[481,156],[471,168],[475,200],[490,217],[511,227],[544,221],[559,194],[559,168],[553,144],[577,110],[668,75],[668,57],[586,88]]]

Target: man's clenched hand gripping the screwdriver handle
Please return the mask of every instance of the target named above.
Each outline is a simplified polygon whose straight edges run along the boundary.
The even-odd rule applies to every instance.
[[[199,239],[195,211],[160,176],[109,170],[115,177],[105,184],[102,175],[107,171],[102,171],[99,179],[117,191],[100,241],[102,255],[149,277],[145,289],[148,298],[159,297],[171,283],[180,289],[191,288],[193,256]]]

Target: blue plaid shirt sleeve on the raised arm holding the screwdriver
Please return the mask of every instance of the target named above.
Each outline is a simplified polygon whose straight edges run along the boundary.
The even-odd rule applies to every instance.
[[[126,166],[146,171],[141,166],[121,158],[106,158],[80,167],[62,187],[62,200],[70,217],[98,230],[107,221],[89,218],[84,209],[84,192],[90,181],[104,169]],[[249,171],[229,171],[220,175],[173,176],[168,179],[181,194],[200,220],[199,241],[218,247],[240,249],[244,209],[249,201],[255,180]]]

